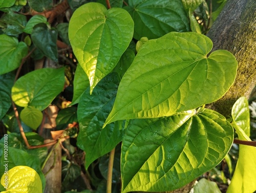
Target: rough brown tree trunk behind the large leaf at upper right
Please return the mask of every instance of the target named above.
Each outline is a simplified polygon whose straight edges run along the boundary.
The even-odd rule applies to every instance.
[[[228,116],[234,102],[241,96],[248,98],[256,84],[256,1],[229,0],[207,36],[214,43],[213,50],[228,50],[238,61],[232,87],[206,106]]]

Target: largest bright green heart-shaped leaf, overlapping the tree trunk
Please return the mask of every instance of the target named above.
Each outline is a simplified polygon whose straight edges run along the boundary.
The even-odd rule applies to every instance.
[[[124,74],[106,124],[157,118],[219,99],[232,85],[237,60],[225,50],[209,56],[212,41],[194,32],[148,40]]]

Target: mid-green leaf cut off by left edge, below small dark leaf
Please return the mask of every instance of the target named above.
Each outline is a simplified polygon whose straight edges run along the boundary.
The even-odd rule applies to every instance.
[[[0,35],[0,75],[19,67],[22,59],[28,54],[25,42],[8,35]]]

